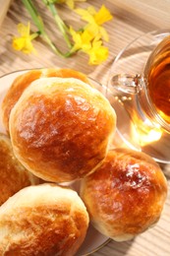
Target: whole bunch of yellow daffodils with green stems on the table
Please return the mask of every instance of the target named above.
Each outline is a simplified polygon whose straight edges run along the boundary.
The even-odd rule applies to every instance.
[[[83,51],[89,57],[89,64],[98,65],[102,63],[108,57],[108,48],[103,45],[103,40],[108,41],[109,38],[106,30],[103,28],[103,24],[113,18],[109,10],[104,5],[102,5],[98,11],[92,6],[89,6],[87,9],[77,9],[76,12],[82,17],[82,20],[85,21],[85,26],[79,31],[74,31],[73,28],[69,29],[57,10],[57,4],[64,3],[71,9],[74,9],[77,2],[85,1],[86,0],[42,0],[46,8],[51,12],[69,48],[66,52],[62,52],[51,40],[48,32],[46,32],[41,15],[37,11],[36,4],[34,3],[35,1],[22,0],[32,22],[37,28],[37,32],[30,33],[29,23],[28,26],[19,24],[18,32],[20,35],[13,37],[13,48],[27,54],[30,52],[35,53],[36,51],[32,45],[32,39],[36,36],[41,36],[58,56],[68,58],[76,52]]]

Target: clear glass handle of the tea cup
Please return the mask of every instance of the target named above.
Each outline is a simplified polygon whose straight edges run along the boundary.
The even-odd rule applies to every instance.
[[[120,92],[137,95],[142,90],[143,78],[141,75],[117,74],[110,80],[111,86]]]

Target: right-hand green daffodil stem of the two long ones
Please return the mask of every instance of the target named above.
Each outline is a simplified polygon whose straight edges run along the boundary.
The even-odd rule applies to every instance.
[[[54,17],[54,20],[60,30],[60,32],[62,32],[63,34],[63,37],[68,45],[69,48],[72,47],[72,43],[68,37],[68,34],[67,32],[69,31],[67,26],[65,25],[65,23],[62,21],[62,19],[60,18],[58,12],[57,12],[57,9],[55,8],[55,5],[53,3],[51,3],[50,1],[48,0],[42,0],[44,2],[44,4],[49,8],[49,10],[51,11],[53,17]]]

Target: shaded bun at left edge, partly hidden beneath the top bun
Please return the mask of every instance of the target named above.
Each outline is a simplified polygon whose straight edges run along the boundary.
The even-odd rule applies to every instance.
[[[0,206],[22,188],[38,182],[15,158],[10,139],[0,133]]]

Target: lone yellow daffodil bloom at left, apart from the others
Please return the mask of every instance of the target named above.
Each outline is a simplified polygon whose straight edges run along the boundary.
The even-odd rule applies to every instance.
[[[13,48],[15,50],[23,51],[24,53],[28,54],[30,52],[36,52],[31,40],[37,36],[37,33],[30,34],[30,24],[25,26],[24,24],[18,25],[18,32],[20,36],[13,37]]]

